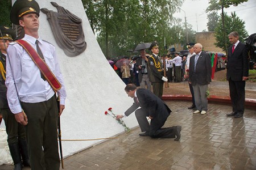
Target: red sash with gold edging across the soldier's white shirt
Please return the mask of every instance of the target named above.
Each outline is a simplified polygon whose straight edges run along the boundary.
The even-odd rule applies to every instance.
[[[30,44],[28,44],[27,41],[16,40],[16,42],[18,42],[19,45],[21,45],[26,50],[28,55],[38,66],[41,73],[43,73],[47,82],[51,85],[53,90],[55,90],[55,91],[60,90],[60,88],[61,88],[60,82],[56,79],[55,75],[49,69],[46,62],[44,62],[43,59],[39,56],[39,54],[36,52],[36,50],[34,48],[32,48],[32,46]]]

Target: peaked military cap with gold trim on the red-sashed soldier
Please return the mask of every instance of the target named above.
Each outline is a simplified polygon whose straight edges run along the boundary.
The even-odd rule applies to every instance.
[[[11,22],[19,25],[20,17],[30,13],[35,13],[39,16],[40,7],[38,3],[35,0],[17,0],[11,8]]]

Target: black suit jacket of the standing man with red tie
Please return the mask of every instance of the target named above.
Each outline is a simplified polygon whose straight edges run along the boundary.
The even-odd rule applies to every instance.
[[[231,78],[233,81],[242,81],[243,76],[249,75],[248,53],[245,44],[239,42],[233,54],[232,46],[229,47],[226,69],[227,80]]]

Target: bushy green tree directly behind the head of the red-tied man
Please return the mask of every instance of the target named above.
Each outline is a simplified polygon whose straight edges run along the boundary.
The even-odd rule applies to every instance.
[[[231,16],[224,15],[225,23],[226,23],[226,32],[230,33],[233,31],[237,31],[239,35],[240,41],[244,41],[248,37],[248,32],[245,30],[245,22],[243,22],[241,19],[238,18],[236,15],[236,12],[232,12]],[[224,33],[223,27],[222,27],[222,19],[219,20],[215,31],[215,37],[217,42],[214,44],[218,46],[219,48],[222,48],[223,51],[226,51],[226,46],[228,44],[225,44],[226,42],[229,42],[228,36]],[[226,53],[228,54],[228,53]]]

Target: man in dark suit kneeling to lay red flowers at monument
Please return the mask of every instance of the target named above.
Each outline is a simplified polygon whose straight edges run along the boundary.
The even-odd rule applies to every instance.
[[[136,110],[135,116],[141,131],[145,131],[139,135],[150,136],[151,138],[175,138],[176,136],[174,141],[179,141],[181,126],[162,128],[171,113],[171,109],[158,96],[144,88],[137,90],[134,84],[127,84],[125,92],[134,99],[134,103],[124,114],[117,115],[117,119],[129,116]],[[138,109],[138,107],[141,108]],[[151,119],[150,124],[147,117]]]

